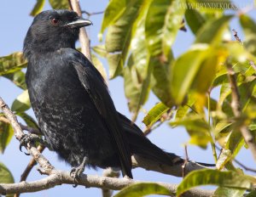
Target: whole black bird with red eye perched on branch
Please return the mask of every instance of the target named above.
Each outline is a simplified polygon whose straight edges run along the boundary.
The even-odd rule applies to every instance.
[[[173,166],[183,163],[145,138],[115,110],[101,74],[75,49],[79,28],[91,25],[73,11],[38,14],[27,31],[26,84],[49,149],[67,161],[75,178],[84,166],[118,167],[132,178],[131,155]]]

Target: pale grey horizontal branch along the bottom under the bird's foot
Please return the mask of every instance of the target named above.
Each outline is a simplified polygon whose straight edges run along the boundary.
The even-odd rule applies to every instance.
[[[11,184],[0,184],[0,194],[14,194],[14,193],[31,193],[37,192],[44,189],[54,188],[57,185],[63,183],[73,184],[73,178],[70,177],[69,172],[55,171],[55,173],[49,175],[49,177],[44,177],[41,180],[34,182],[21,182],[21,183],[11,183]],[[79,182],[77,184],[84,185],[85,188],[100,188],[100,189],[113,189],[119,190],[123,189],[128,185],[134,183],[142,183],[141,181],[134,181],[130,178],[115,178],[115,177],[98,177],[93,175],[81,175]],[[144,182],[143,182],[144,183]],[[169,189],[170,193],[176,193],[177,184],[170,183],[159,183]],[[183,197],[192,196],[212,196],[212,190],[204,189],[191,189],[189,192],[183,194]]]

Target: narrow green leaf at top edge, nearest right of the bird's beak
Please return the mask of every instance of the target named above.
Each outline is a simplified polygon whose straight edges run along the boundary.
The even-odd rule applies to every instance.
[[[111,0],[108,3],[108,7],[104,12],[104,17],[102,21],[102,29],[99,34],[99,37],[102,37],[103,32],[105,29],[112,25],[119,17],[124,14],[125,8],[127,5],[127,1],[125,0]],[[101,40],[101,39],[100,39]]]

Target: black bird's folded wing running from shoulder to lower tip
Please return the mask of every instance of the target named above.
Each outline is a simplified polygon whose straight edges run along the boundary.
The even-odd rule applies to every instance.
[[[122,131],[113,100],[108,93],[106,83],[94,65],[84,57],[84,54],[73,49],[65,49],[63,51],[67,54],[64,56],[68,57],[67,60],[73,65],[79,76],[79,81],[83,84],[85,91],[89,93],[96,110],[98,110],[108,127],[113,143],[116,144],[118,149],[123,174],[132,178],[131,151],[125,133]]]

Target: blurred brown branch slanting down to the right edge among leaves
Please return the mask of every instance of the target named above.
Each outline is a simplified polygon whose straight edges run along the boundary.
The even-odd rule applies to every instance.
[[[227,62],[227,69],[228,69],[228,76],[230,80],[230,87],[231,87],[231,108],[233,110],[234,115],[237,118],[241,117],[241,103],[240,103],[240,96],[238,92],[238,87],[236,85],[236,75],[235,71],[232,68],[232,65],[230,65],[229,62]],[[253,139],[252,133],[247,129],[245,125],[242,125],[240,128],[240,132],[242,137],[244,138],[246,144],[248,145],[249,149],[253,153],[253,158],[256,160],[256,144]]]

